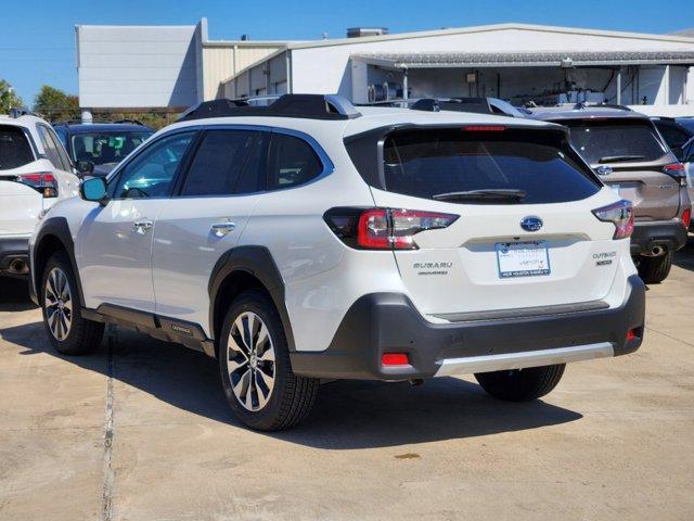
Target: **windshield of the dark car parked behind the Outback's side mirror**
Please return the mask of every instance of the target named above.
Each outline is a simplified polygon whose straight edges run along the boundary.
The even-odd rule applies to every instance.
[[[78,134],[73,136],[73,160],[94,165],[118,163],[150,136],[150,131]]]

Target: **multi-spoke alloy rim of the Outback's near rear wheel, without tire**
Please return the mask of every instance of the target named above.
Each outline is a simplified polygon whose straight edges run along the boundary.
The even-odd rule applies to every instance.
[[[274,346],[268,327],[255,313],[242,313],[231,326],[227,360],[239,403],[254,412],[262,409],[274,387]]]

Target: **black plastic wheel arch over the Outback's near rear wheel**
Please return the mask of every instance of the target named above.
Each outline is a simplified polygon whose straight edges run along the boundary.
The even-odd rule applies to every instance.
[[[239,246],[224,253],[209,277],[209,330],[219,346],[224,316],[231,302],[244,291],[255,289],[267,293],[284,327],[290,352],[294,352],[294,334],[285,303],[284,281],[265,246]]]

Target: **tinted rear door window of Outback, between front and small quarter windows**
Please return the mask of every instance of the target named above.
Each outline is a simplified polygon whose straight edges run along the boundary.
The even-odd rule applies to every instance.
[[[262,132],[209,130],[203,136],[181,195],[231,195],[260,190]]]

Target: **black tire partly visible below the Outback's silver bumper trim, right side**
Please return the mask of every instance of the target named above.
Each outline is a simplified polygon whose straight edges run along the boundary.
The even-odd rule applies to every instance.
[[[566,364],[530,367],[512,371],[479,372],[479,385],[493,397],[507,402],[528,402],[550,393],[560,383]]]

